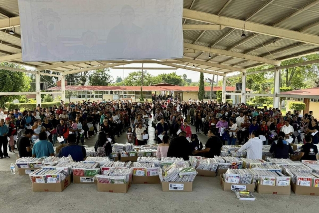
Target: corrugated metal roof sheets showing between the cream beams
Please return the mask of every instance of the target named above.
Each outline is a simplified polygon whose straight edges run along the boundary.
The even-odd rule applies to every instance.
[[[297,11],[298,9],[302,8],[303,6],[311,3],[313,0],[275,0],[268,6],[266,6],[262,11],[258,12],[255,16],[253,16],[249,21],[252,22],[258,22],[262,24],[273,24],[280,19],[286,17],[287,15],[291,14],[292,12]],[[227,2],[227,0],[184,0],[184,8],[189,8],[190,5],[193,3],[192,8],[193,10],[199,10],[203,12],[210,12],[213,14],[216,14]],[[232,18],[238,18],[238,19],[245,19],[247,16],[252,14],[254,11],[256,11],[261,5],[263,5],[267,0],[232,0],[221,12],[221,16],[227,16]],[[0,11],[3,11],[6,15],[13,17],[18,16],[18,4],[17,0],[0,0]],[[5,14],[0,14],[1,18],[6,18]],[[318,21],[319,17],[319,4],[313,6],[312,8],[309,8],[306,11],[302,11],[300,14],[289,18],[279,24],[276,25],[276,27],[291,29],[291,30],[299,30],[307,25],[310,25],[316,21]],[[187,19],[185,24],[207,24],[200,21],[195,20],[189,20]],[[184,30],[184,42],[186,43],[193,43],[196,45],[201,46],[211,46],[216,41],[218,41],[221,37],[228,34],[228,32],[232,30],[231,28],[224,28],[222,30],[206,30],[202,36],[194,42],[198,36],[202,33],[202,30]],[[17,35],[21,34],[20,27],[15,27],[15,33]],[[242,38],[241,35],[241,29],[235,29],[230,34],[228,34],[226,37],[224,37],[222,40],[220,40],[218,43],[216,43],[213,48],[217,49],[225,49],[228,50],[232,46],[236,45],[238,42],[241,42]],[[310,29],[307,29],[304,31],[304,33],[311,33],[314,35],[319,35],[319,25],[314,26]],[[246,36],[250,36],[251,32],[245,32]],[[257,33],[256,33],[257,34]],[[9,42],[11,44],[21,46],[21,41],[19,38],[9,35],[7,33],[4,33],[0,31],[0,39],[3,39],[5,42]],[[230,51],[233,52],[240,52],[240,53],[248,53],[250,55],[257,55],[257,56],[264,56],[265,58],[273,59],[275,58],[287,58],[291,56],[295,56],[298,54],[301,54],[303,52],[307,52],[311,49],[317,50],[319,48],[316,45],[311,44],[305,44],[305,45],[297,45],[300,42],[298,41],[292,41],[288,39],[281,39],[280,41],[275,42],[274,44],[267,45],[266,47],[262,47],[263,44],[271,42],[272,40],[277,39],[273,36],[268,35],[257,35],[257,37],[254,37],[247,42],[244,42],[238,46],[236,46],[233,49],[230,49]],[[289,48],[289,47],[292,48]],[[255,50],[256,47],[261,47]],[[285,49],[283,52],[277,52],[273,53],[272,55],[269,54],[269,52],[276,52],[281,49]],[[10,52],[11,54],[20,52],[19,49],[10,47],[10,45],[1,45],[0,44],[0,50]],[[184,54],[185,57],[194,58],[197,57],[199,60],[207,61],[208,59],[208,53],[201,54],[201,52],[197,53],[186,53]],[[3,53],[0,53],[1,55],[5,55]],[[213,57],[214,55],[211,54]],[[212,62],[222,62],[224,60],[229,59],[228,56],[218,56],[213,58]],[[21,60],[16,60],[17,62],[21,62]],[[229,61],[227,61],[225,64],[236,64],[239,62],[245,61],[243,59],[236,59],[233,58]],[[21,62],[23,63],[23,62]],[[50,62],[50,63],[60,63],[60,62]],[[47,65],[41,62],[32,62],[28,63],[25,62],[24,64],[30,64],[30,65],[36,65],[36,66],[43,66]],[[92,62],[93,65],[98,65],[98,63]],[[186,63],[184,63],[186,64]],[[253,66],[256,62],[245,62],[243,64],[239,64],[238,66]],[[87,67],[85,64],[80,64],[80,66]],[[200,66],[205,67],[205,66]],[[78,67],[76,66],[68,66],[68,69],[76,69]],[[59,70],[65,70],[63,68],[58,68]],[[224,70],[227,71],[227,70]]]

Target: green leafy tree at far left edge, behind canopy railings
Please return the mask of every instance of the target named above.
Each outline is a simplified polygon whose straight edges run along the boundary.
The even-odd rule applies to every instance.
[[[17,69],[25,69],[24,67],[9,63],[1,63],[0,65]],[[0,69],[0,76],[1,92],[27,92],[30,88],[31,79],[24,72]],[[6,102],[13,101],[14,99],[19,99],[20,97],[20,95],[0,96],[0,106],[3,106]]]

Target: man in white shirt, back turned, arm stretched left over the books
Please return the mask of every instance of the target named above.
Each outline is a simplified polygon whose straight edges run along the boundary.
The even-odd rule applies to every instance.
[[[253,131],[250,139],[244,144],[238,152],[247,151],[247,159],[261,159],[263,157],[263,142],[259,139],[257,131]]]

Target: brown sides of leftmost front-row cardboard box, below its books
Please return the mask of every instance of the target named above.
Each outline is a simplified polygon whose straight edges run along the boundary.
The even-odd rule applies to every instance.
[[[71,176],[69,175],[63,182],[55,184],[32,183],[33,192],[62,192],[71,184]]]

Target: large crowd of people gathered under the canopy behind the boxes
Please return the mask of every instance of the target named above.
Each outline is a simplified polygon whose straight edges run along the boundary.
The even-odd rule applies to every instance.
[[[155,129],[151,143],[159,144],[158,157],[213,158],[220,155],[223,145],[235,144],[243,145],[238,151],[247,150],[247,158],[261,158],[262,145],[272,145],[274,157],[288,158],[293,154],[290,143],[305,143],[300,155],[303,159],[316,158],[318,153],[314,144],[318,144],[319,126],[312,111],[303,116],[299,111],[283,115],[281,110],[267,106],[231,106],[169,97],[144,103],[83,100],[65,105],[61,100],[59,106],[8,110],[6,115],[0,112],[0,158],[9,157],[7,148],[15,153],[15,142],[20,157],[53,155],[53,146],[58,142],[59,156],[70,154],[83,159],[86,153],[79,143],[83,145],[98,132],[96,152],[98,156],[109,156],[111,144],[122,134],[128,143],[148,144],[150,128]],[[195,132],[190,126],[195,126]],[[204,149],[199,134],[208,137]]]

